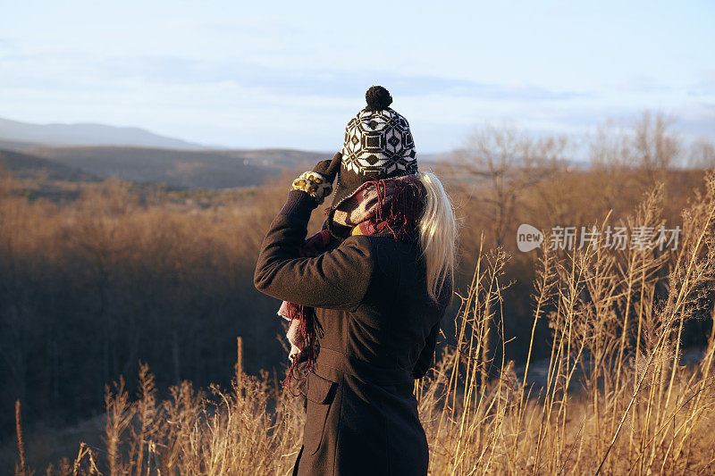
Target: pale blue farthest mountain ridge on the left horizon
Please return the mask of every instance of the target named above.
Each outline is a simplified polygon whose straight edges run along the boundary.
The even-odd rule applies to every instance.
[[[205,146],[178,138],[159,136],[146,129],[116,127],[104,124],[31,124],[0,119],[0,145],[13,150],[24,150],[23,142],[47,146],[104,145],[146,146],[177,149],[199,149]]]

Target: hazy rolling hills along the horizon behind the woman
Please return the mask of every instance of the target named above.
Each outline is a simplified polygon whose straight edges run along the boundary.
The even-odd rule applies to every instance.
[[[284,171],[309,170],[333,154],[210,149],[139,128],[91,123],[41,125],[7,119],[0,119],[0,150],[6,151],[5,167],[18,177],[117,178],[214,189],[259,185]],[[420,163],[428,167],[437,158],[437,154],[421,155]]]

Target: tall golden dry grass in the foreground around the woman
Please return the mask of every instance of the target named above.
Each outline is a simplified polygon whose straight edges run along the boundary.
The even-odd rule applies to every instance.
[[[533,293],[526,369],[492,362],[503,342],[501,249],[481,252],[456,318],[456,347],[416,382],[432,474],[710,474],[715,470],[715,327],[699,363],[680,363],[684,322],[715,319],[715,174],[683,211],[677,250],[544,241]],[[623,223],[661,222],[654,188]],[[610,216],[598,225],[610,223]],[[546,380],[530,385],[537,322],[552,331]],[[239,358],[240,362],[240,358]],[[156,399],[139,370],[134,401],[123,380],[106,388],[105,447],[82,445],[48,474],[286,474],[300,444],[299,401],[267,372],[236,365],[231,389],[188,381]]]

